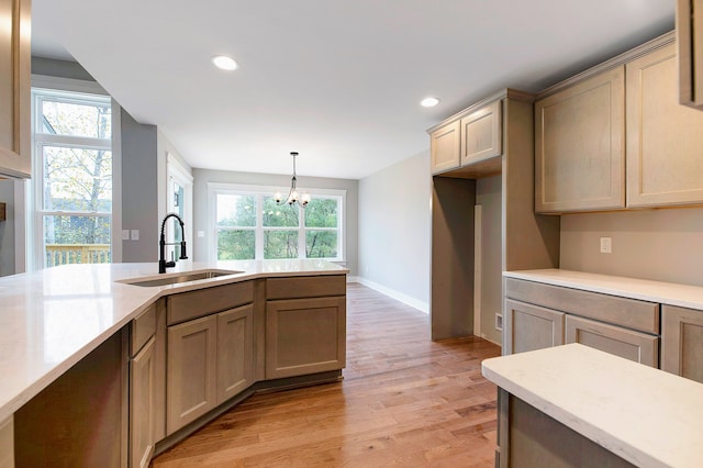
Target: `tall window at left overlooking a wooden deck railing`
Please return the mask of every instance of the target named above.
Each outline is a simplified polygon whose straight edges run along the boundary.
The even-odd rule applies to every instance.
[[[32,89],[35,266],[112,258],[112,104]]]

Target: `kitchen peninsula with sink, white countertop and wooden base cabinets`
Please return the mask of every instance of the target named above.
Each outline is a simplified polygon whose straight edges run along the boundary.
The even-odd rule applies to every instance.
[[[130,283],[190,270],[225,275]],[[13,465],[58,446],[69,461],[146,466],[255,391],[341,378],[345,268],[181,261],[156,271],[67,265],[0,278],[0,453],[14,441]]]

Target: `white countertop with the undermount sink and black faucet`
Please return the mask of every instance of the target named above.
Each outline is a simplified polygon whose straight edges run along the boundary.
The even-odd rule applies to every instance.
[[[144,288],[115,282],[200,269],[238,271]],[[163,296],[254,278],[344,275],[324,260],[179,261],[166,275],[156,263],[65,265],[0,278],[0,421],[46,388]]]

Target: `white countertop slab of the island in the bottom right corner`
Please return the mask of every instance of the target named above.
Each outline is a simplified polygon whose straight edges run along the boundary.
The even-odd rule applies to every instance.
[[[636,466],[703,466],[703,383],[577,343],[486,359],[482,371]]]

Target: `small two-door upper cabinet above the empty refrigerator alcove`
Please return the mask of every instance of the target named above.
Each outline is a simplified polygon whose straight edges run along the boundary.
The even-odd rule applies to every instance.
[[[432,174],[471,166],[502,154],[500,99],[479,103],[429,130]],[[494,174],[500,172],[500,160]]]

